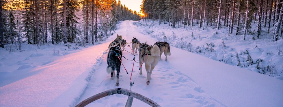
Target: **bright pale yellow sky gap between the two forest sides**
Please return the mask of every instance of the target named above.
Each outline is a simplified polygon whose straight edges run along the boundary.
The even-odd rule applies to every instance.
[[[142,0],[120,0],[121,4],[126,5],[129,9],[141,11]],[[117,1],[118,2],[118,1]]]

